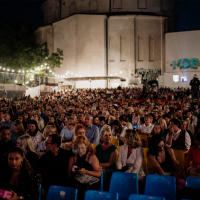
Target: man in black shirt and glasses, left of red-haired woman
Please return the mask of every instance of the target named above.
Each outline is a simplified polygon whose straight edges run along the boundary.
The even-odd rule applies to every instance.
[[[47,152],[40,158],[39,174],[42,178],[42,188],[47,195],[50,185],[67,185],[67,173],[69,159],[74,154],[60,148],[61,137],[57,134],[46,138],[45,146]]]

